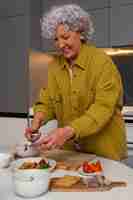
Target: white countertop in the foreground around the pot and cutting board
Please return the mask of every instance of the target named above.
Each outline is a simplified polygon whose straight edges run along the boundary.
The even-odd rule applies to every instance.
[[[105,176],[111,180],[126,181],[127,187],[114,188],[106,192],[48,192],[38,198],[30,200],[132,200],[133,198],[133,169],[124,164],[108,159],[99,158],[104,166]],[[65,171],[54,172],[53,176],[65,174]],[[68,174],[68,173],[67,173]],[[0,170],[0,199],[1,200],[22,200],[13,193],[11,172],[9,169]]]

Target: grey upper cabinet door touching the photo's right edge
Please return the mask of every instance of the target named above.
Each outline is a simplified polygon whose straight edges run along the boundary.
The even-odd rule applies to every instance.
[[[133,44],[133,5],[111,9],[111,45]]]

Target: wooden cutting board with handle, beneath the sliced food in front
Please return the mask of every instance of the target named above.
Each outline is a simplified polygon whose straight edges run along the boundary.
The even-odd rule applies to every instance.
[[[125,182],[111,182],[108,186],[103,185],[103,186],[94,186],[91,182],[86,185],[83,183],[82,180],[77,182],[76,184],[72,185],[71,187],[64,187],[62,186],[57,186],[56,183],[60,179],[60,177],[57,178],[52,178],[49,186],[49,190],[52,192],[96,192],[96,191],[108,191],[111,190],[114,187],[126,187]]]

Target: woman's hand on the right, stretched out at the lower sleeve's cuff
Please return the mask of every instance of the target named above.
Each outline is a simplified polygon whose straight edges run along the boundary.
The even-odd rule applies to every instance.
[[[42,135],[34,145],[41,151],[61,148],[67,140],[74,136],[73,132],[71,127],[57,128],[46,136]]]

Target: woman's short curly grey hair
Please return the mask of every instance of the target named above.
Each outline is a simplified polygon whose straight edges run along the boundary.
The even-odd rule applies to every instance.
[[[54,6],[41,19],[42,36],[54,39],[58,24],[64,24],[72,31],[81,33],[81,40],[89,41],[94,33],[90,15],[80,6],[67,4]]]

